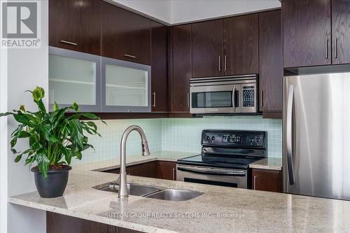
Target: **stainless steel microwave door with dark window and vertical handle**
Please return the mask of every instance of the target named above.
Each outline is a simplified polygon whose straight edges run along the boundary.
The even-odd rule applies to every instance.
[[[240,85],[190,87],[190,113],[239,113]]]

